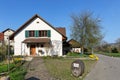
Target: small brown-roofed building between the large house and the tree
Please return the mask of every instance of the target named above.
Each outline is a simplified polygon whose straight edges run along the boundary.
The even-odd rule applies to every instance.
[[[71,40],[68,41],[68,44],[70,45],[71,52],[81,53],[81,46],[80,46],[79,42],[71,39]]]

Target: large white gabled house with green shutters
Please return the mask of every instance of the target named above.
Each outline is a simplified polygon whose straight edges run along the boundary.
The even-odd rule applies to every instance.
[[[14,55],[63,55],[67,40],[65,28],[54,28],[37,14],[10,37],[14,40]]]

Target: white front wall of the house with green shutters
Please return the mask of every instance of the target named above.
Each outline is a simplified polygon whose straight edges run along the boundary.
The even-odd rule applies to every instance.
[[[39,23],[37,23],[37,22],[39,22]],[[51,28],[49,25],[47,25],[45,22],[43,22],[39,18],[36,18],[33,22],[31,22],[31,24],[29,24],[27,27],[25,27],[21,32],[19,32],[14,37],[14,41],[15,41],[14,53],[15,53],[15,55],[21,55],[21,54],[29,55],[29,53],[30,53],[29,47],[27,48],[26,44],[22,43],[22,41],[24,41],[26,39],[25,38],[26,30],[51,30],[51,37],[50,37],[51,41],[62,42],[61,34],[59,34],[57,31],[55,31],[53,28]],[[54,47],[55,47],[55,45],[53,46],[53,49],[54,49]],[[59,56],[62,56],[62,43],[60,44],[59,47],[61,47],[61,48],[59,48],[60,49]]]

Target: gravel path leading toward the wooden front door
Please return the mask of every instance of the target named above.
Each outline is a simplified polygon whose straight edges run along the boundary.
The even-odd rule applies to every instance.
[[[44,64],[44,61],[40,57],[35,57],[28,67],[28,73],[25,76],[25,80],[55,80],[53,79]]]

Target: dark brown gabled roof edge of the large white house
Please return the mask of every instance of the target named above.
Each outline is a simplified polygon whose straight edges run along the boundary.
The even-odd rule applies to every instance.
[[[33,20],[35,20],[36,18],[40,18],[43,22],[45,22],[47,25],[49,25],[51,28],[53,28],[54,30],[56,30],[58,33],[60,33],[64,38],[67,39],[67,37],[65,35],[63,35],[61,32],[59,32],[56,28],[54,28],[51,24],[49,24],[47,21],[45,21],[43,18],[41,18],[39,15],[35,14],[32,18],[30,18],[27,22],[25,22],[20,28],[18,28],[16,30],[15,33],[13,33],[11,36],[10,36],[10,39],[13,39],[14,36],[16,34],[18,34],[21,30],[23,30],[27,25],[29,25]]]

